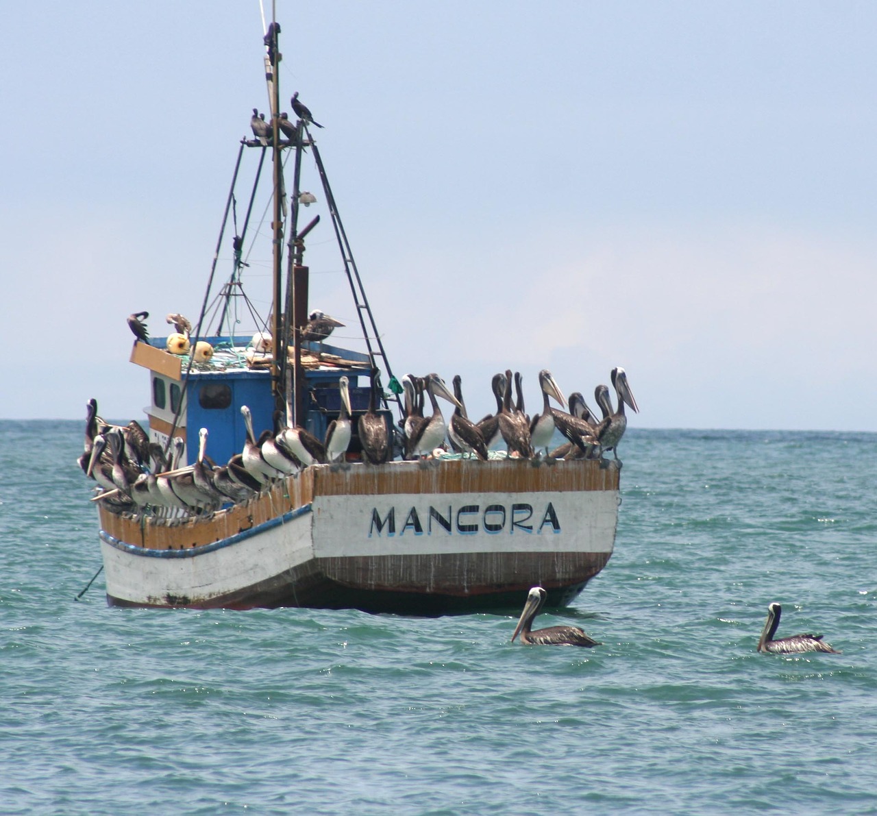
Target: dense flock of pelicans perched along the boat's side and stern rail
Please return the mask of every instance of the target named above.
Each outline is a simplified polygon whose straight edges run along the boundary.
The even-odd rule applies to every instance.
[[[362,459],[369,465],[381,465],[394,457],[393,435],[385,417],[377,411],[380,384],[377,369],[371,373],[367,411],[357,423]],[[602,409],[602,419],[588,409],[581,394],[569,399],[569,412],[549,404],[553,397],[565,404],[563,394],[550,371],[539,372],[543,395],[542,411],[530,417],[524,411],[522,379],[511,371],[493,377],[496,413],[480,422],[467,418],[460,386],[460,376],[453,378],[453,392],[438,374],[424,377],[403,377],[405,416],[403,458],[419,459],[445,453],[446,437],[455,451],[463,456],[488,459],[488,448],[505,443],[508,455],[531,458],[537,455],[553,458],[602,458],[611,450],[617,460],[617,446],[624,434],[627,419],[624,404],[638,411],[624,369],[613,369],[612,383],[617,393],[613,411],[609,389],[597,386],[595,398]],[[512,404],[512,390],[517,390]],[[223,466],[206,455],[206,428],[199,433],[196,461],[180,467],[184,443],[174,440],[174,454],[168,456],[151,442],[138,422],[114,426],[97,415],[96,400],[86,408],[85,444],[79,465],[86,476],[103,488],[97,497],[113,512],[149,512],[162,522],[174,523],[191,515],[216,512],[223,505],[246,502],[276,479],[291,476],[315,464],[343,462],[353,437],[353,416],[350,387],[346,376],[339,378],[340,410],[338,419],[326,429],[324,440],[318,440],[290,420],[283,422],[282,412],[275,412],[275,428],[264,431],[257,439],[249,408],[241,407],[246,425],[246,441],[240,454]],[[431,413],[424,415],[426,397]],[[454,412],[446,422],[439,408],[438,397],[453,404]],[[553,451],[554,430],[566,442]],[[619,462],[620,464],[620,462]]]

